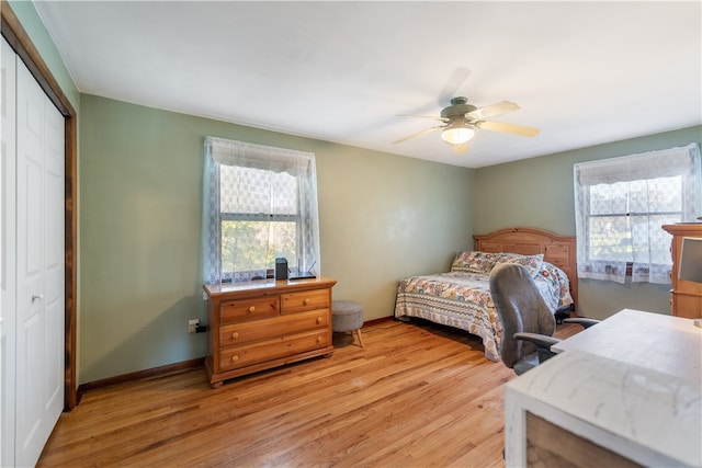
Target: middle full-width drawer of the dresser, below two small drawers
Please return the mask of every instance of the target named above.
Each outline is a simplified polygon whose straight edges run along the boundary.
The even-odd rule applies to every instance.
[[[329,309],[310,310],[275,319],[231,323],[219,328],[219,346],[246,344],[328,327]]]

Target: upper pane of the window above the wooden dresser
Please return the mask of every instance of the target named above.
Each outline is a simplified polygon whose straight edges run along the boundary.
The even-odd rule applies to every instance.
[[[287,172],[222,165],[219,186],[222,213],[297,214],[297,178]]]

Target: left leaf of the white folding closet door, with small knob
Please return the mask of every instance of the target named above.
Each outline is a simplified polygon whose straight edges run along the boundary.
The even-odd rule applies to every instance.
[[[18,67],[18,323],[15,464],[36,464],[44,418],[44,100]]]

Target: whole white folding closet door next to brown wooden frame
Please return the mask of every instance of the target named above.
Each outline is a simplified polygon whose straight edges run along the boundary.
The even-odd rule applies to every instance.
[[[15,465],[64,407],[64,117],[18,60]]]

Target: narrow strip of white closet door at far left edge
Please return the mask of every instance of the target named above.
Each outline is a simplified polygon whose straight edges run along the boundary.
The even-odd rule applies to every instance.
[[[2,39],[0,117],[0,466],[14,466],[15,391],[15,61]]]

